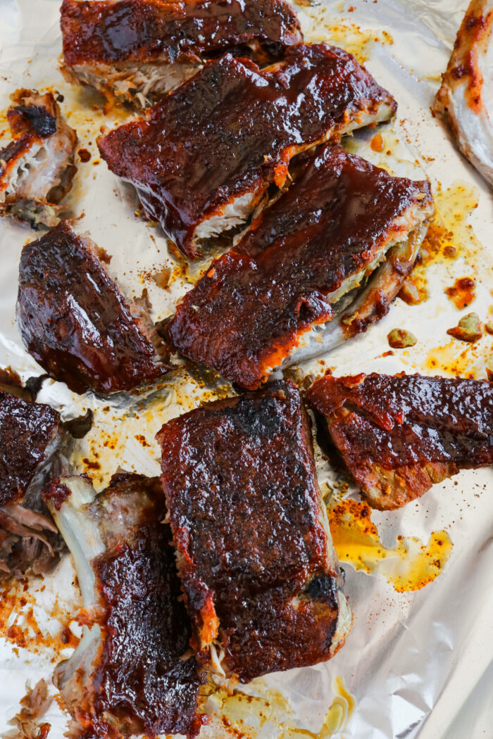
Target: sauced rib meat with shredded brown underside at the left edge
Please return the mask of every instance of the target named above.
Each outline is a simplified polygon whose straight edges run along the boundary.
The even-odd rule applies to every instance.
[[[0,391],[0,579],[48,571],[63,546],[41,500],[57,468],[60,415]]]

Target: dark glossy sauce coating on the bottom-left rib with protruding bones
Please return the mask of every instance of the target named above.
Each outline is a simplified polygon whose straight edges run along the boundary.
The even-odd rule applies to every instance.
[[[123,723],[132,716],[129,723],[135,723],[138,733],[194,735],[200,729],[200,681],[195,659],[181,659],[191,627],[178,600],[180,579],[171,529],[162,522],[162,488],[156,479],[122,477],[112,483],[114,494],[147,486],[155,505],[143,511],[136,531],[112,542],[111,550],[93,564],[106,606],[106,640],[96,678],[102,688],[98,710],[111,710]]]

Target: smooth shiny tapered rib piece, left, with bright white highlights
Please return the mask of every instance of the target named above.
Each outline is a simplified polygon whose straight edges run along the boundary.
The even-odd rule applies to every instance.
[[[18,329],[41,367],[74,392],[129,390],[169,368],[157,361],[150,319],[126,302],[96,250],[67,221],[24,246]]]

